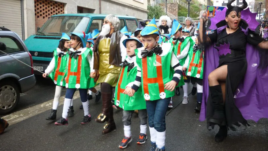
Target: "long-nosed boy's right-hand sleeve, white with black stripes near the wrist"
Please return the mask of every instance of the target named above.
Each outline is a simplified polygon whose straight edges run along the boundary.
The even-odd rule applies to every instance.
[[[178,84],[180,82],[180,78],[182,76],[182,66],[180,65],[180,62],[174,53],[172,53],[172,56],[171,56],[170,66],[174,70],[172,80],[176,81]]]

